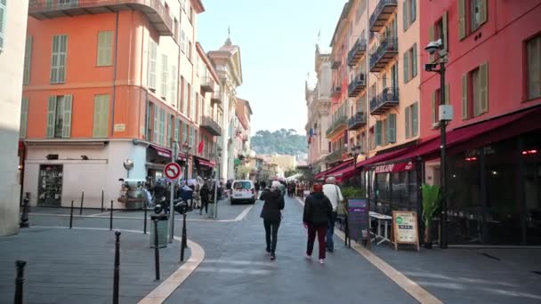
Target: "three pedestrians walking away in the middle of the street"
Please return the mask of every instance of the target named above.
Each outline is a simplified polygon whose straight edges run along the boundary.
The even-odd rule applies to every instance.
[[[278,180],[272,181],[271,188],[264,188],[260,199],[264,201],[261,218],[265,228],[265,251],[276,260],[278,230],[285,207],[286,186]],[[324,185],[315,184],[309,196],[304,200],[303,226],[307,230],[306,259],[311,254],[318,236],[319,263],[323,264],[326,252],[334,252],[333,235],[335,233],[336,208],[343,201],[342,191],[336,185],[334,177],[329,177]]]

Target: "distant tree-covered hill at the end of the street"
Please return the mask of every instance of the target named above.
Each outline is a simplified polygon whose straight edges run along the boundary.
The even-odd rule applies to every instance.
[[[280,129],[275,132],[260,130],[252,136],[252,149],[257,154],[284,154],[294,156],[307,153],[306,136],[299,135],[295,129]]]

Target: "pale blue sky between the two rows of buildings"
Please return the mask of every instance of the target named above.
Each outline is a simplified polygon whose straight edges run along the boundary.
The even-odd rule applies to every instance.
[[[205,52],[228,36],[240,47],[243,84],[237,96],[250,101],[252,134],[295,129],[305,134],[304,82],[315,84],[315,44],[330,41],[345,0],[202,0],[198,41]],[[310,73],[310,78],[308,77]]]

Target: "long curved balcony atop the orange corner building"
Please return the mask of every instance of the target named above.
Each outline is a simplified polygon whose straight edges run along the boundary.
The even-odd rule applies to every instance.
[[[160,36],[173,35],[173,19],[159,0],[30,0],[28,15],[38,19],[120,11],[142,12]]]

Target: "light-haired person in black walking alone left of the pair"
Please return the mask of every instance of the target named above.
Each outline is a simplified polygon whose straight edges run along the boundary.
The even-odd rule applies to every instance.
[[[276,244],[278,237],[278,228],[282,220],[281,210],[284,209],[284,196],[280,191],[279,181],[273,181],[271,189],[263,190],[261,199],[264,201],[261,218],[265,227],[265,248],[268,254],[271,254],[271,260],[276,259]]]

